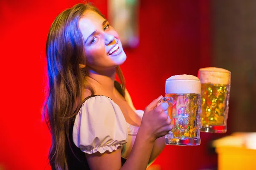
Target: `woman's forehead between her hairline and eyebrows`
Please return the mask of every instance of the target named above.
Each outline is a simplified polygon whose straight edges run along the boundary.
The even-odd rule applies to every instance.
[[[102,28],[102,23],[105,19],[98,13],[89,10],[86,11],[79,20],[79,29],[81,30],[83,37],[87,38],[93,31]]]

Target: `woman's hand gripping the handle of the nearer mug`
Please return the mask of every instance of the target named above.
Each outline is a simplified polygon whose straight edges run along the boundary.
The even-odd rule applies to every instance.
[[[169,105],[167,103],[162,103],[157,106],[158,101],[162,97],[163,96],[159,96],[157,99],[154,99],[145,108],[140,125],[140,129],[143,130],[143,133],[146,133],[149,136],[151,142],[166,135],[173,127],[170,117],[166,114]]]

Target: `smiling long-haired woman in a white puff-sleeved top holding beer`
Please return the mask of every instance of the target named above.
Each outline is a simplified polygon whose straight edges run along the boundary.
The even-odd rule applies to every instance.
[[[136,111],[119,68],[126,55],[108,20],[88,3],[63,11],[49,30],[46,52],[52,169],[146,169],[172,129],[168,105],[157,106],[160,96],[144,113]]]

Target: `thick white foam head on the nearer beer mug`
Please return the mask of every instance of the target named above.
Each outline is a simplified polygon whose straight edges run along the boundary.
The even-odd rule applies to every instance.
[[[166,94],[201,94],[200,80],[192,75],[175,75],[166,79]]]

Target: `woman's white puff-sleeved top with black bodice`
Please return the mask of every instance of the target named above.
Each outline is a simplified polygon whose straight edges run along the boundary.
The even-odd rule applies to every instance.
[[[144,111],[135,112],[142,118]],[[69,169],[76,170],[89,170],[84,153],[112,152],[118,147],[121,147],[123,165],[140,128],[127,123],[119,106],[107,96],[85,99],[71,126],[69,139],[72,150],[66,147],[67,163]]]

